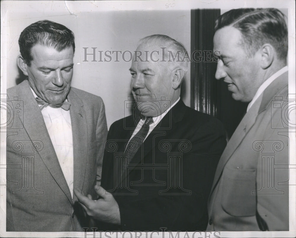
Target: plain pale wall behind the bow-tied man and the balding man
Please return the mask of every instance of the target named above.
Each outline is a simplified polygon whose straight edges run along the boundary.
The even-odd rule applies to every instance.
[[[38,20],[52,20],[71,29],[75,34],[74,74],[72,86],[99,95],[106,107],[108,128],[124,116],[124,101],[130,95],[131,62],[91,62],[84,60],[84,49],[134,51],[139,39],[152,34],[168,35],[185,45],[190,51],[190,9],[178,11],[82,11],[65,14],[65,11],[48,12],[48,8],[8,13],[7,88],[16,85],[20,71],[16,58],[21,31]],[[115,55],[115,54],[114,54]],[[99,58],[99,53],[96,54]],[[129,58],[129,54],[126,54]],[[106,58],[108,59],[108,58]],[[97,59],[99,60],[99,59]],[[190,106],[190,68],[183,87],[183,100]]]

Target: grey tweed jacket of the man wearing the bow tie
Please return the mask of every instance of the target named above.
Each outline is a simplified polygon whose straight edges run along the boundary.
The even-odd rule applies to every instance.
[[[7,231],[83,231],[87,221],[76,208],[75,194],[72,201],[28,81],[9,88],[7,95],[14,109],[7,129]],[[67,99],[71,103],[73,186],[93,194],[107,136],[104,103],[72,87]]]

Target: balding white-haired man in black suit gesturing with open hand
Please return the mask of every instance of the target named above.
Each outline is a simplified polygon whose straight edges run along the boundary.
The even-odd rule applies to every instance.
[[[186,54],[165,35],[143,38],[135,51],[136,103],[126,105],[136,111],[110,127],[102,187],[96,186],[101,197],[91,200],[75,190],[99,230],[206,228],[206,201],[226,137],[221,122],[180,99]]]

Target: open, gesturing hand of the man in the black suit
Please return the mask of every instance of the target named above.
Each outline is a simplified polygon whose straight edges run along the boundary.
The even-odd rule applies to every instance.
[[[96,185],[94,189],[96,194],[99,195],[98,200],[92,200],[91,195],[86,197],[77,189],[74,189],[74,193],[84,211],[86,211],[87,215],[99,221],[120,225],[119,207],[113,195],[99,185]]]

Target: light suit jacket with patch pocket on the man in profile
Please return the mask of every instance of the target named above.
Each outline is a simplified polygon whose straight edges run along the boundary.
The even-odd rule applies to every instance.
[[[209,197],[208,231],[289,230],[288,73],[259,96],[230,138]]]

